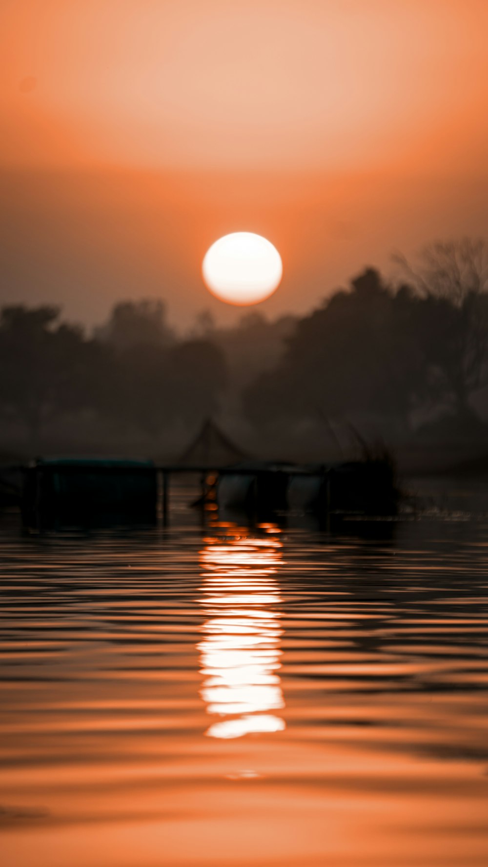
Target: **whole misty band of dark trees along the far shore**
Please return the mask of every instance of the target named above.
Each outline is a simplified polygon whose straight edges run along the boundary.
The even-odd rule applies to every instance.
[[[117,303],[93,334],[56,307],[3,307],[2,446],[158,455],[210,415],[257,442],[307,425],[394,441],[429,425],[485,434],[486,245],[396,261],[395,284],[369,267],[307,316],[251,311],[222,328],[203,311],[185,335],[160,300]]]

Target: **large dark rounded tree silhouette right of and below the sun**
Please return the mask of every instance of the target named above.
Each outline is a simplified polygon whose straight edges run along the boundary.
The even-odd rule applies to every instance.
[[[420,395],[424,365],[413,340],[413,293],[394,294],[369,268],[322,308],[305,316],[290,336],[278,368],[244,393],[253,420],[339,417],[370,413],[407,424]]]

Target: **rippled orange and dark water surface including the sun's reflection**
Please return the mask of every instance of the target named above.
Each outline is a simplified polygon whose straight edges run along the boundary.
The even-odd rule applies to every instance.
[[[0,527],[3,867],[486,867],[488,518],[391,529]]]

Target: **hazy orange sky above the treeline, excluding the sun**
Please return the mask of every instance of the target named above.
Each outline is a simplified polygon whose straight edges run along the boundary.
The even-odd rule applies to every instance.
[[[242,230],[274,316],[488,236],[487,32],[485,0],[3,0],[0,301],[235,316],[200,264]]]

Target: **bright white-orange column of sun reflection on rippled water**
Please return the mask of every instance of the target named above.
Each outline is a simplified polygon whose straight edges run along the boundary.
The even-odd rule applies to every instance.
[[[279,676],[282,602],[277,570],[282,544],[277,528],[264,538],[225,527],[225,535],[205,539],[201,604],[207,619],[198,643],[200,695],[215,717],[206,734],[240,738],[244,734],[280,732],[285,725]]]

